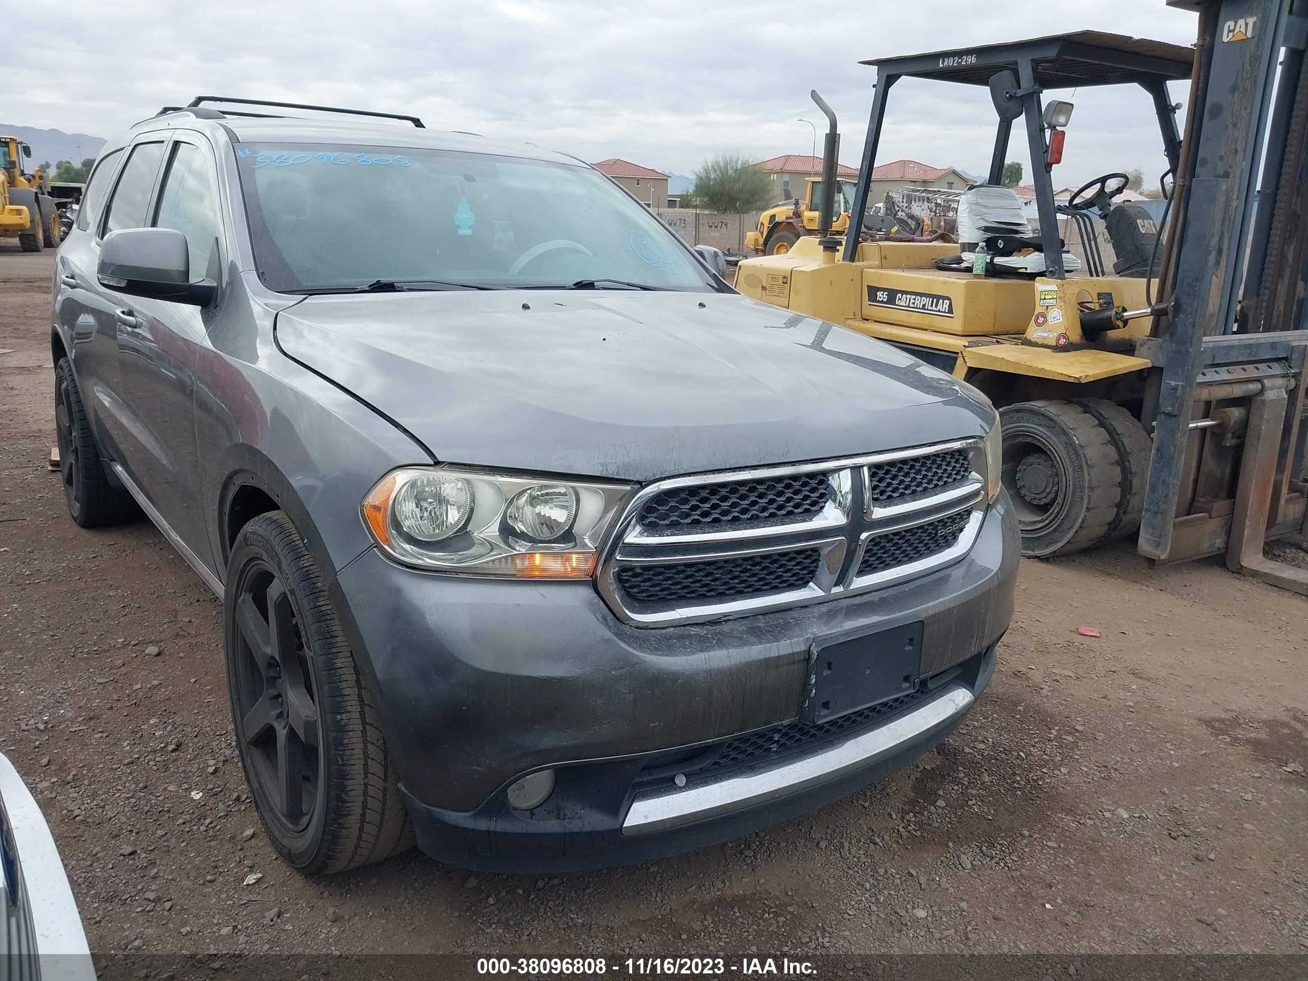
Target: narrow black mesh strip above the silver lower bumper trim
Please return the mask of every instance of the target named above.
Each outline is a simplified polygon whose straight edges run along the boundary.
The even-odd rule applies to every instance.
[[[672,753],[655,756],[645,764],[644,773],[637,781],[645,786],[671,783],[676,773],[683,773],[691,780],[701,776],[721,780],[735,770],[772,763],[786,756],[814,752],[825,743],[836,742],[846,734],[905,712],[930,695],[931,692],[923,687],[876,705],[857,709],[829,722],[819,722],[818,725],[791,722],[765,732],[736,736],[693,753],[689,759],[685,759],[684,753],[679,757]]]

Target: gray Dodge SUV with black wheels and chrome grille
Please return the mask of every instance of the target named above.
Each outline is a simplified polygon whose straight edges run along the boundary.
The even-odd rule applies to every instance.
[[[136,124],[54,277],[69,511],[221,596],[290,865],[649,859],[959,725],[1019,555],[984,396],[572,157],[336,112]]]

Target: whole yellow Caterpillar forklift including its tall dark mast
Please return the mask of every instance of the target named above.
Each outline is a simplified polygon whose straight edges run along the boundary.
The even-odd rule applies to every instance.
[[[889,341],[985,392],[999,408],[1003,483],[1025,555],[1069,555],[1139,532],[1139,551],[1156,561],[1224,552],[1253,570],[1266,561],[1257,557],[1264,538],[1301,534],[1304,519],[1308,332],[1299,328],[1308,326],[1308,226],[1296,209],[1308,195],[1299,188],[1269,203],[1267,188],[1303,179],[1294,154],[1308,140],[1308,90],[1284,81],[1278,89],[1273,78],[1282,48],[1282,71],[1300,71],[1299,8],[1308,0],[1168,3],[1199,13],[1194,48],[1079,31],[865,61],[878,75],[854,213],[866,209],[900,78],[989,90],[997,120],[990,169],[959,199],[957,243],[895,241],[866,228],[840,237],[824,213],[819,237],[786,255],[742,262],[736,288]],[[1169,93],[1182,80],[1190,81],[1184,140]],[[1138,86],[1152,106],[1168,164],[1162,224],[1117,200],[1125,173],[1090,181],[1065,204],[1054,200],[1050,173],[1074,106],[1049,93],[1104,85]],[[1001,183],[1019,120],[1033,161],[1035,225]],[[833,179],[838,133],[829,112],[828,122],[824,179]],[[1062,228],[1086,229],[1092,218],[1107,226],[1112,256],[1093,234],[1082,235],[1082,255],[1067,249]],[[1275,233],[1270,246],[1260,230]],[[1287,255],[1287,243],[1298,251]],[[1300,256],[1304,267],[1291,268]],[[1273,269],[1277,263],[1284,268]],[[1245,296],[1250,288],[1254,298],[1274,294],[1279,306],[1240,303],[1244,269]],[[1244,343],[1254,314],[1262,318],[1256,330],[1270,332]],[[1275,344],[1265,343],[1273,336]],[[829,339],[819,331],[814,344]],[[1265,381],[1273,375],[1283,382]],[[1294,395],[1260,437],[1279,453],[1269,476],[1265,458],[1256,470],[1250,456],[1273,445],[1250,447],[1252,403],[1277,385]],[[1245,487],[1256,473],[1261,483]],[[1232,559],[1236,552],[1243,557]],[[1283,569],[1275,577],[1279,585],[1295,578]]]

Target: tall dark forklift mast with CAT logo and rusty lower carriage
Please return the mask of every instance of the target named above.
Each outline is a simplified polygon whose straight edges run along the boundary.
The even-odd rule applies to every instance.
[[[1139,551],[1224,552],[1232,570],[1308,593],[1305,570],[1264,557],[1265,538],[1301,534],[1308,489],[1308,0],[1168,5],[1197,10],[1199,30],[1159,272],[1167,313],[1138,352],[1155,365]]]

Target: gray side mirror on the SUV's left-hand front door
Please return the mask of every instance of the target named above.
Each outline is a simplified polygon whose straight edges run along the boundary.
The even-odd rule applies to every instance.
[[[128,296],[192,306],[208,306],[218,292],[213,280],[191,283],[186,235],[170,228],[110,232],[99,246],[95,279]]]

